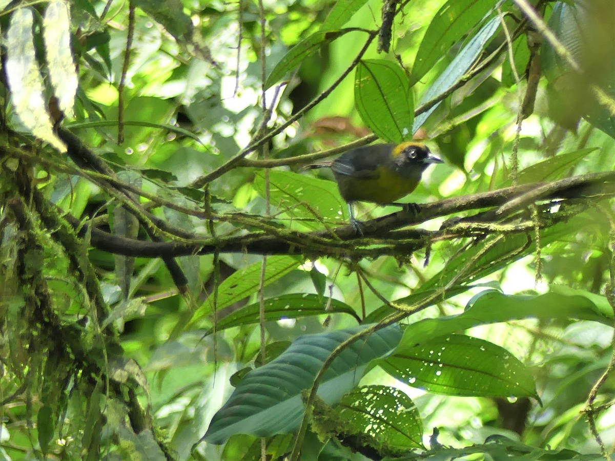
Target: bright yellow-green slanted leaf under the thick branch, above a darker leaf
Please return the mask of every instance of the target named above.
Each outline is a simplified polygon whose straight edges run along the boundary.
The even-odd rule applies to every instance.
[[[301,264],[301,258],[298,256],[269,256],[265,267],[264,286],[296,269],[299,264]],[[224,282],[220,283],[218,287],[218,304],[216,307],[222,309],[256,293],[260,286],[261,266],[263,266],[262,262],[255,262],[225,278]],[[192,321],[200,320],[211,312],[212,302],[213,297],[210,296],[196,310]]]

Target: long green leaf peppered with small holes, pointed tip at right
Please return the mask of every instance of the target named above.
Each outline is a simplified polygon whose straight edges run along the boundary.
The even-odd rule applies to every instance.
[[[538,398],[526,366],[506,349],[483,339],[452,334],[421,344],[400,344],[380,362],[412,387],[444,395]]]

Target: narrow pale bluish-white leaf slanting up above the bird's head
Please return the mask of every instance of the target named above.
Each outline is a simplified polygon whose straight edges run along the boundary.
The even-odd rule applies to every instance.
[[[421,104],[437,98],[456,84],[459,79],[461,79],[461,77],[463,77],[464,74],[466,74],[466,72],[472,67],[472,65],[474,65],[475,61],[480,56],[480,53],[482,53],[483,49],[485,49],[485,45],[490,42],[491,37],[493,37],[493,34],[496,33],[499,26],[499,17],[496,16],[491,18],[491,20],[467,42],[453,61],[451,61],[448,67],[446,67],[444,72],[438,76],[434,83],[431,84],[431,87],[427,89],[421,98]],[[416,130],[424,124],[427,117],[429,117],[429,115],[435,111],[435,108],[439,105],[440,103],[434,104],[434,106],[430,109],[416,117],[413,128],[414,132],[416,132]]]

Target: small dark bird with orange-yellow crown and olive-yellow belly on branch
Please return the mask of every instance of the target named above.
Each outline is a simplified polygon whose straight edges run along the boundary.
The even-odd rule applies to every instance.
[[[407,141],[351,149],[335,160],[306,165],[306,168],[331,168],[339,194],[348,204],[352,227],[358,234],[363,234],[352,209],[354,202],[417,209],[416,203],[395,203],[395,200],[416,189],[429,165],[442,163],[442,159],[434,156],[425,144]]]

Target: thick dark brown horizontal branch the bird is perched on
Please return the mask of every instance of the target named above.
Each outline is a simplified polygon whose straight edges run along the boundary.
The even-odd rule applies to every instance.
[[[540,191],[540,194],[528,194],[529,191]],[[441,200],[440,202],[422,205],[418,214],[399,211],[391,215],[367,221],[362,227],[365,237],[358,237],[351,226],[341,226],[330,230],[317,232],[297,232],[294,230],[276,229],[275,234],[268,232],[253,232],[234,237],[210,238],[202,236],[192,242],[141,242],[130,238],[116,237],[99,229],[92,229],[91,242],[95,248],[114,254],[127,256],[143,256],[145,258],[164,258],[170,256],[185,256],[189,254],[221,253],[252,253],[252,254],[304,254],[306,256],[336,256],[348,258],[377,257],[384,254],[407,254],[423,248],[431,240],[444,240],[467,237],[480,232],[483,235],[499,232],[498,225],[508,223],[507,232],[524,232],[526,226],[510,223],[511,213],[515,210],[505,210],[498,213],[502,205],[510,203],[518,197],[531,197],[537,200],[585,199],[596,200],[615,196],[615,172],[593,173],[574,176],[553,183],[523,184],[522,186],[506,187],[497,191],[465,195]],[[489,210],[484,210],[489,208]],[[547,206],[546,209],[549,207]],[[443,225],[439,231],[423,229],[404,229],[401,227],[424,223],[429,219],[455,215],[462,211],[484,210],[475,216],[451,220],[453,224]],[[561,215],[561,216],[560,216]],[[552,225],[567,216],[565,213],[550,213]],[[516,215],[515,215],[516,216]],[[75,227],[78,221],[68,217]],[[481,226],[459,226],[458,223],[480,223]],[[491,230],[489,224],[492,225]],[[268,226],[269,227],[269,226]],[[81,229],[82,234],[87,232]]]

